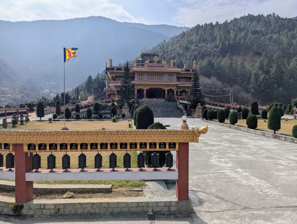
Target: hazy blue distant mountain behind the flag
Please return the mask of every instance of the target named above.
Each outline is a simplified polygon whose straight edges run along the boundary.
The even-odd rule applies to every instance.
[[[118,65],[187,27],[121,23],[98,17],[31,22],[0,21],[0,85],[15,80],[62,82],[63,47],[78,47],[65,63],[66,85],[75,86],[104,69]],[[1,68],[2,67],[2,68]],[[71,78],[70,78],[71,77]]]

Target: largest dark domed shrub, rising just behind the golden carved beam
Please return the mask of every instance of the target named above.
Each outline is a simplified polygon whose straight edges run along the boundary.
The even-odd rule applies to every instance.
[[[137,109],[136,129],[147,129],[153,123],[154,113],[151,108],[146,104],[140,106]]]

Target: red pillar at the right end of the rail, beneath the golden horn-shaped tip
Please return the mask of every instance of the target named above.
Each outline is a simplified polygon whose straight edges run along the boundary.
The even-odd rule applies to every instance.
[[[189,199],[189,142],[178,143],[176,152],[176,169],[178,180],[176,180],[176,198],[178,200]]]

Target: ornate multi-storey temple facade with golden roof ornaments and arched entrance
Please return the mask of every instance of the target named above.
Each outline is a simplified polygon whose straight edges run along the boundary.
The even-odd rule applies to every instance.
[[[169,97],[187,98],[191,79],[196,68],[177,68],[166,61],[159,60],[159,54],[141,51],[140,58],[134,59],[130,67],[130,78],[135,90],[135,98],[157,99]],[[116,98],[123,79],[124,67],[113,66],[109,59],[109,66],[105,62],[106,87],[104,91],[107,98]]]

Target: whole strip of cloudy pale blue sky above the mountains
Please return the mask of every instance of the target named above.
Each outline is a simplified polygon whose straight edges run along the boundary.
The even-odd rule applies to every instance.
[[[297,0],[0,0],[0,20],[104,16],[121,22],[193,27],[242,15],[297,16]]]

